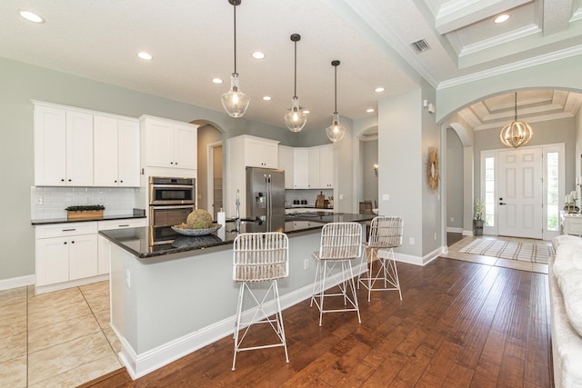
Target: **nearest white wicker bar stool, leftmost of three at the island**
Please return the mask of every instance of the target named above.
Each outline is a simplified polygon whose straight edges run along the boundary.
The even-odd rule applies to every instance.
[[[236,306],[235,327],[235,355],[233,357],[233,371],[236,364],[236,353],[283,346],[286,362],[289,362],[283,314],[279,302],[277,279],[289,274],[289,242],[286,234],[279,232],[238,234],[234,242],[233,280],[240,284],[238,303]],[[259,302],[256,293],[250,284],[256,282],[270,282],[270,285]],[[245,293],[256,303],[256,309],[248,322],[241,322]],[[269,295],[272,301],[267,301]],[[248,312],[248,310],[247,310]],[[278,343],[268,343],[242,347],[248,330],[253,324],[268,323],[278,336]],[[242,330],[242,333],[241,333]]]

